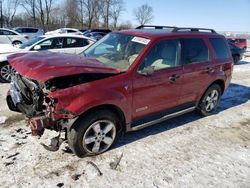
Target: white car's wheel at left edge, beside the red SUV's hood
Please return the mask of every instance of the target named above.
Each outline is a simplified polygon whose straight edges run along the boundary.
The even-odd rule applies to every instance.
[[[0,82],[10,83],[11,76],[15,73],[15,69],[8,62],[0,62]]]

